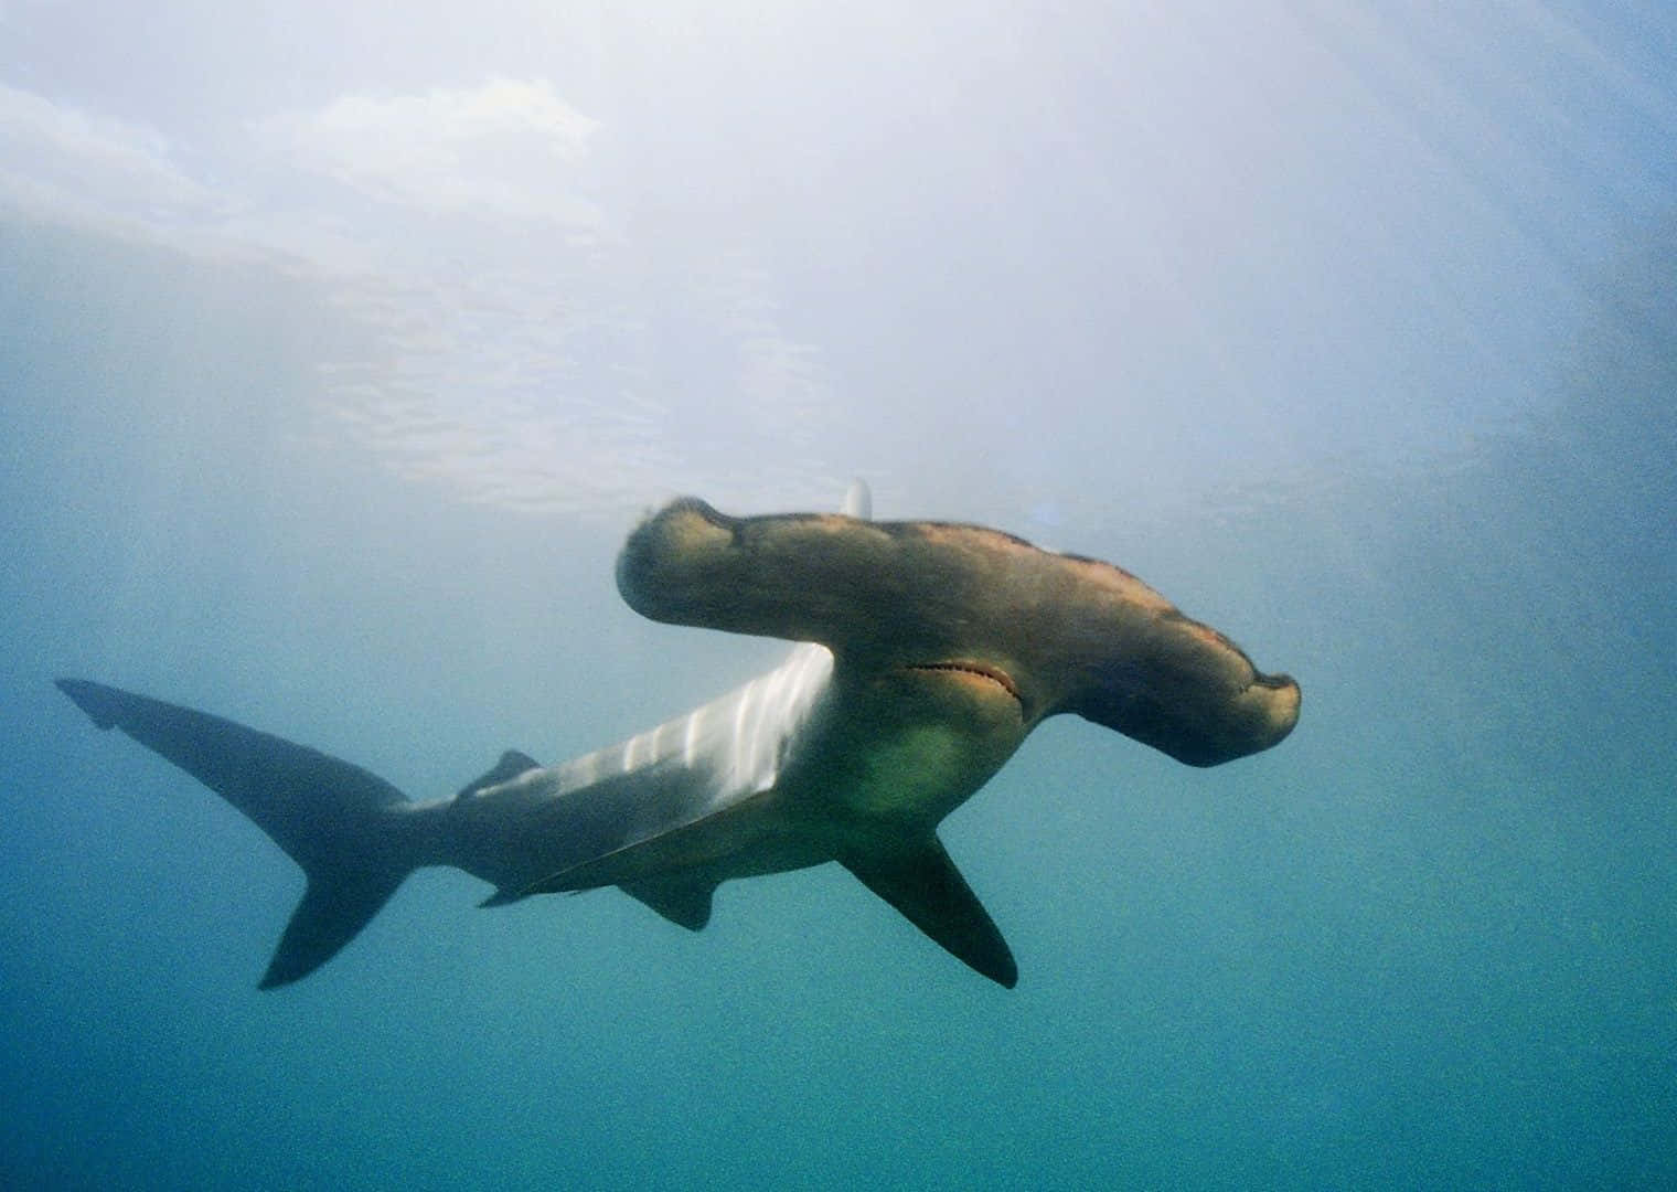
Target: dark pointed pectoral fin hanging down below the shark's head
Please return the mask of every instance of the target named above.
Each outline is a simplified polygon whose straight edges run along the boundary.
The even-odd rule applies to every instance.
[[[1018,984],[1020,969],[1008,942],[937,837],[889,852],[845,853],[838,860],[958,961],[1008,989]]]

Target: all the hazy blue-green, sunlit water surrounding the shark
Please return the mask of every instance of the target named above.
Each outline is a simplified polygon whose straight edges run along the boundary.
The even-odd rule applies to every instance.
[[[1677,1180],[1677,23],[1659,5],[0,7],[0,1182]],[[300,875],[50,686],[416,796],[770,666],[639,511],[1112,558],[1305,687],[1046,724],[688,935]]]

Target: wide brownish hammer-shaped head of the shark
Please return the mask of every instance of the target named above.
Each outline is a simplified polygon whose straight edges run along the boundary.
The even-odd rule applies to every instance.
[[[617,587],[654,620],[820,642],[849,674],[1016,707],[1021,733],[1075,713],[1211,766],[1298,721],[1293,679],[1129,572],[983,526],[733,518],[684,498],[629,536]]]

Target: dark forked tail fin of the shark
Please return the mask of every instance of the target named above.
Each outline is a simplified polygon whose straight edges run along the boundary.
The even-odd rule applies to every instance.
[[[220,716],[86,679],[59,679],[102,729],[119,728],[243,811],[309,878],[262,989],[299,981],[342,949],[413,870],[377,775]]]

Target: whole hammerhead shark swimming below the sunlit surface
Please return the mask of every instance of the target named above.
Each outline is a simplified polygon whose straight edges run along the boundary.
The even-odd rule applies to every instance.
[[[458,795],[384,780],[243,724],[86,679],[57,686],[243,811],[307,889],[262,989],[309,976],[423,865],[483,905],[615,885],[699,930],[729,878],[838,862],[974,971],[1013,987],[1001,932],[937,838],[1048,716],[1191,766],[1268,749],[1300,689],[1134,575],[974,525],[845,513],[735,518],[696,498],[642,521],[617,588],[652,620],[798,645],[775,671],[620,744],[542,766],[506,751]]]

